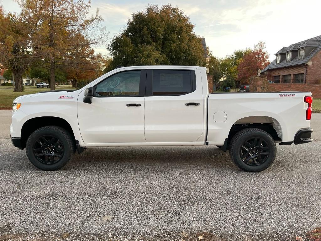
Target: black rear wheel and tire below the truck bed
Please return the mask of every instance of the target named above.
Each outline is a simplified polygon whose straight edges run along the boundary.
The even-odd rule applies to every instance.
[[[271,135],[264,130],[246,128],[231,139],[230,156],[242,170],[261,172],[273,163],[276,145]]]

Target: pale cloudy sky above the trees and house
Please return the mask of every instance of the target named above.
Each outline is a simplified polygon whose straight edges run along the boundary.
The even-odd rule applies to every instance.
[[[20,11],[13,0],[0,2],[5,12]],[[219,58],[237,49],[253,48],[262,40],[272,61],[282,47],[321,35],[319,0],[92,0],[91,13],[99,9],[103,25],[109,31],[109,42],[132,13],[145,9],[149,3],[178,6],[190,17],[195,33],[205,38],[206,45]],[[95,51],[108,54],[106,46]]]

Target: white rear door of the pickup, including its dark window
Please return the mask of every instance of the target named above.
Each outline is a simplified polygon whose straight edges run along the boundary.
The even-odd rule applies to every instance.
[[[204,101],[200,72],[187,68],[148,69],[146,141],[193,142],[202,136],[203,130]]]

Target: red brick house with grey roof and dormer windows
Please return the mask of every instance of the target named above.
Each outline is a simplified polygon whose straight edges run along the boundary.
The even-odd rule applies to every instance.
[[[283,47],[261,73],[277,91],[311,91],[321,98],[321,35]]]

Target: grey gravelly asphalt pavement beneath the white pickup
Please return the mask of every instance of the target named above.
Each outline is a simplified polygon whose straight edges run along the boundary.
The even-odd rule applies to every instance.
[[[321,114],[315,141],[277,146],[261,173],[210,146],[92,148],[44,172],[12,146],[10,116],[0,111],[0,240],[283,241],[321,227]]]

